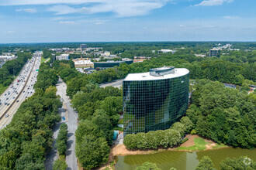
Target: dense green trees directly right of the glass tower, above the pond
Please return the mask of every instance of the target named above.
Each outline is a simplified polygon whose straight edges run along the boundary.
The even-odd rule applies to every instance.
[[[197,80],[187,116],[206,138],[240,148],[255,148],[256,93]]]

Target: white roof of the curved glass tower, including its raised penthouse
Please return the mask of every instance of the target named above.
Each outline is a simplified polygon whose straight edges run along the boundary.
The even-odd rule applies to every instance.
[[[185,68],[176,69],[174,66],[164,66],[161,68],[151,69],[150,72],[147,73],[130,73],[126,76],[124,81],[164,80],[176,78],[178,76],[185,76],[188,73],[189,70]]]

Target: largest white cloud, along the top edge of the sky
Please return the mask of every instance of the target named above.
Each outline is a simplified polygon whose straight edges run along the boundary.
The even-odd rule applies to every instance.
[[[173,0],[1,0],[0,5],[53,5],[48,11],[56,15],[112,12],[116,17],[147,15]],[[74,8],[72,5],[79,5]]]

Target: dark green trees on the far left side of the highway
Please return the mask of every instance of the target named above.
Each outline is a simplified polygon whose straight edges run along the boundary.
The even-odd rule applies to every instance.
[[[0,69],[0,94],[12,83],[15,76],[19,75],[20,70],[26,63],[26,61],[31,58],[31,53],[17,53],[17,59],[12,59],[7,61]]]

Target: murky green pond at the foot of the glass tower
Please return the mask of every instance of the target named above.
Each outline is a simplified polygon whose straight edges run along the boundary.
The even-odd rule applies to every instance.
[[[227,158],[239,158],[248,156],[256,161],[256,149],[221,148],[208,151],[161,151],[150,155],[126,155],[116,157],[116,170],[130,170],[142,165],[144,162],[154,162],[158,168],[169,170],[171,167],[177,170],[192,170],[199,164],[199,159],[209,156],[213,160],[215,168],[220,169],[220,162]]]

